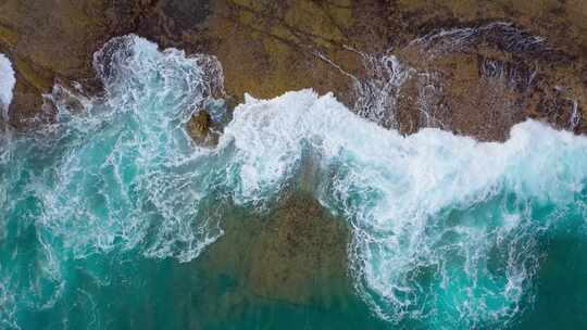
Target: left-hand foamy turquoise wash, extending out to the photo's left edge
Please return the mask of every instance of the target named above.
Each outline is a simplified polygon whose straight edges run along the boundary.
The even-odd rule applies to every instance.
[[[184,129],[222,87],[215,59],[160,51],[136,36],[113,39],[95,58],[102,97],[57,86],[55,124],[1,132],[2,320],[9,303],[52,306],[68,259],[137,251],[187,262],[222,234],[215,212],[201,205],[221,207],[211,187],[224,169]]]

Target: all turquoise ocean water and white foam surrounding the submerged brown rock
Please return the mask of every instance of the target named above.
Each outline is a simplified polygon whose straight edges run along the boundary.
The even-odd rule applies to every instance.
[[[2,127],[1,329],[587,326],[587,138],[404,137],[310,89],[227,113],[214,58],[136,36],[95,66],[102,96],[55,86],[54,124]],[[185,129],[202,106],[215,148]],[[260,296],[237,256],[301,193],[348,230],[348,271]]]

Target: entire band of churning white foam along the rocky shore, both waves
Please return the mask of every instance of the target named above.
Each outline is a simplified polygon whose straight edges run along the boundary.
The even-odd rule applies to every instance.
[[[303,187],[351,228],[355,293],[389,325],[508,327],[532,309],[548,242],[587,240],[585,137],[533,120],[504,143],[404,137],[312,90],[247,96],[229,118],[214,58],[136,36],[95,66],[103,96],[57,86],[57,123],[2,128],[0,328],[82,294],[80,262],[197,258],[226,207],[263,213],[308,172]],[[185,130],[204,106],[227,123],[212,149]]]

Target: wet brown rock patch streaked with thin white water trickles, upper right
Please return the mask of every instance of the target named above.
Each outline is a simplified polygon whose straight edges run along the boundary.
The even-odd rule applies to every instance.
[[[530,117],[585,131],[587,100],[583,84],[571,74],[575,62],[511,23],[437,29],[391,56],[402,65],[389,69],[389,58],[374,58],[371,72],[384,73],[375,80],[395,79],[396,85],[389,91],[384,84],[360,90],[367,99],[394,101],[379,110],[376,120],[384,126],[404,134],[438,127],[502,141],[513,124]]]

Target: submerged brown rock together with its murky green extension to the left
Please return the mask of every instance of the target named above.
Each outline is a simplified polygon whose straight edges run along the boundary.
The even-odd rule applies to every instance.
[[[352,285],[347,269],[348,226],[304,193],[266,215],[234,213],[201,258],[203,274],[237,278],[227,303],[252,300],[328,304]],[[248,295],[250,294],[250,296]]]

